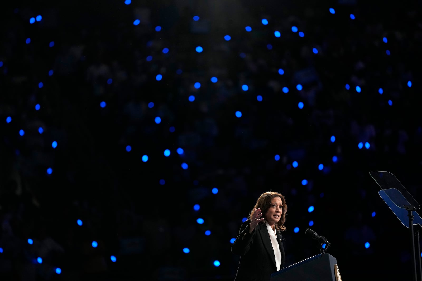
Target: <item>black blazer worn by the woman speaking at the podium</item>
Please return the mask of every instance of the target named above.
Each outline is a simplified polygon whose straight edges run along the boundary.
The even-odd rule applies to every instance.
[[[243,222],[239,235],[232,245],[232,253],[240,256],[235,281],[269,281],[271,273],[277,271],[277,266],[268,228],[261,222],[252,233],[249,233],[250,222],[250,220]],[[276,233],[281,252],[280,269],[282,269],[286,255],[281,233],[279,230],[276,230]]]

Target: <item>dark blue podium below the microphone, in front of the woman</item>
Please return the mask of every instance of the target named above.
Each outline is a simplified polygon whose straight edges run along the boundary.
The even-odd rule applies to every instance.
[[[270,276],[270,281],[341,281],[337,260],[330,254],[317,254],[283,268]]]

